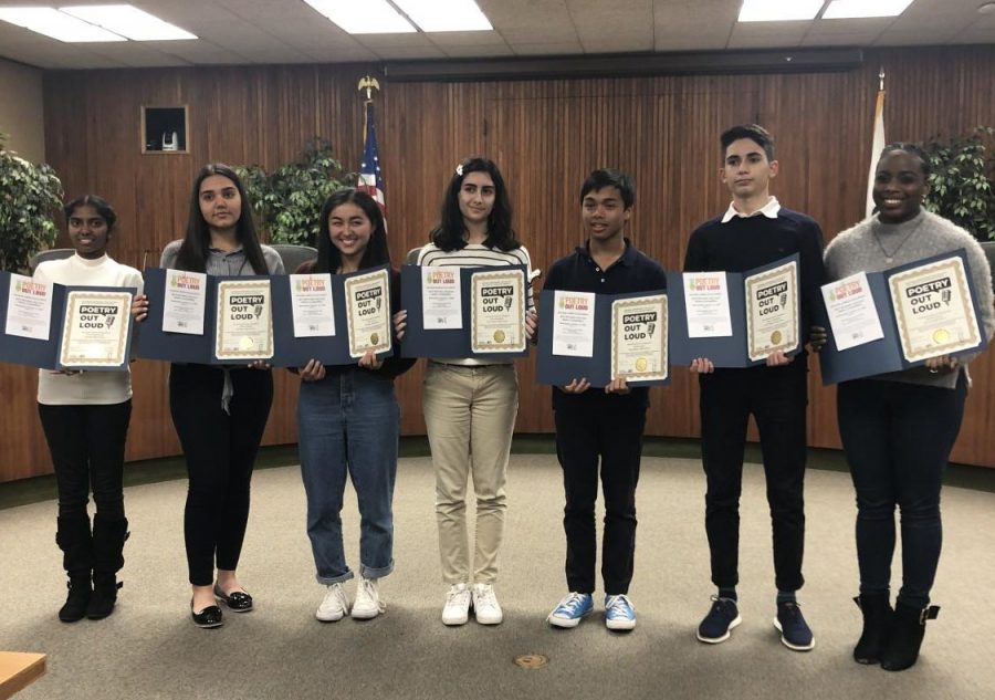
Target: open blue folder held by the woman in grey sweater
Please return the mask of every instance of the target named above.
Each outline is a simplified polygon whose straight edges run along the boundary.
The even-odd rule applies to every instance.
[[[823,374],[823,384],[838,384],[849,379],[858,379],[860,377],[871,377],[889,372],[900,372],[910,367],[917,367],[925,364],[924,359],[909,362],[902,353],[902,342],[899,337],[898,322],[894,316],[894,306],[891,303],[891,291],[889,280],[892,275],[907,270],[912,270],[922,265],[949,260],[951,258],[960,258],[964,261],[964,269],[967,273],[967,289],[971,293],[971,303],[974,306],[974,315],[977,318],[981,330],[981,342],[972,348],[961,351],[961,353],[974,353],[984,349],[988,345],[985,335],[984,325],[982,324],[981,307],[977,305],[977,294],[974,291],[974,281],[971,276],[971,268],[967,263],[967,253],[963,249],[949,253],[942,253],[925,260],[907,263],[881,272],[868,272],[867,282],[870,286],[871,296],[874,300],[874,306],[878,310],[878,317],[881,320],[881,331],[884,337],[856,345],[842,352],[836,349],[836,341],[832,337],[832,328],[829,324],[829,316],[826,313],[825,305],[820,304],[818,309],[819,325],[826,328],[828,339],[826,345],[819,352],[819,367]]]

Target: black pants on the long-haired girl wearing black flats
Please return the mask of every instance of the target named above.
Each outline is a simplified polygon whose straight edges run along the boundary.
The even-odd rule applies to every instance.
[[[252,467],[273,403],[269,370],[231,369],[230,414],[221,407],[224,373],[174,364],[169,410],[190,479],[184,535],[190,583],[210,585],[214,566],[234,570],[249,521]]]

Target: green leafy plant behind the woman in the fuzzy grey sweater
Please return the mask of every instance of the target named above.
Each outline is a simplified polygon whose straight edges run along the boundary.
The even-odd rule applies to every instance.
[[[966,136],[923,144],[932,166],[925,208],[980,241],[995,239],[995,156],[987,149],[993,137],[995,127],[978,126]]]

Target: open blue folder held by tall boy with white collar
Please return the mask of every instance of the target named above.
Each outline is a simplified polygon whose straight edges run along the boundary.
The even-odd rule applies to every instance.
[[[746,339],[746,289],[745,280],[767,270],[779,268],[793,260],[799,261],[798,254],[788,255],[746,272],[725,272],[729,290],[729,310],[733,334],[723,337],[695,337],[688,334],[688,307],[684,301],[684,278],[681,272],[667,273],[667,292],[670,295],[670,362],[673,365],[690,365],[695,357],[708,357],[716,367],[752,367],[763,365],[764,359],[751,361]],[[798,268],[799,283],[795,285],[795,309],[799,309],[800,262]],[[798,344],[785,351],[785,355],[795,355],[802,349],[803,330],[798,328]]]

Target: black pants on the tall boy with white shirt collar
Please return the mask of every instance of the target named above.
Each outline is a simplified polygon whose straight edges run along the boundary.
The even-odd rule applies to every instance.
[[[708,481],[705,531],[712,583],[739,583],[740,494],[746,425],[760,430],[774,534],[778,591],[797,591],[805,548],[805,422],[807,364],[796,357],[781,367],[716,369],[701,375],[701,452]]]

